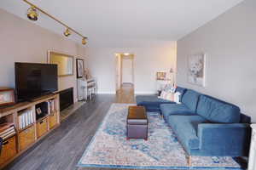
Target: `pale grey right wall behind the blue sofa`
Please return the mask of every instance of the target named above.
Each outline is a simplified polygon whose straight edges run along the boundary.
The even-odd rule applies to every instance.
[[[177,84],[241,108],[256,122],[256,1],[246,0],[177,41]],[[189,54],[207,53],[207,86],[187,79]]]

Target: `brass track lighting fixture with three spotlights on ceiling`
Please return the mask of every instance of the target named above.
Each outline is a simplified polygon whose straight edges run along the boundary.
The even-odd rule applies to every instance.
[[[68,37],[69,35],[71,35],[71,33],[74,33],[74,34],[77,34],[79,37],[82,37],[82,44],[83,45],[85,45],[87,43],[88,37],[84,37],[78,31],[75,31],[73,28],[67,26],[67,24],[63,23],[61,20],[56,19],[54,16],[52,16],[51,14],[48,14],[42,8],[38,8],[33,3],[30,3],[28,0],[23,0],[23,1],[31,6],[30,8],[27,9],[27,14],[26,14],[27,18],[29,20],[38,20],[38,12],[40,12],[41,14],[45,14],[46,16],[51,18],[52,20],[55,20],[56,22],[58,22],[62,26],[66,27],[67,28],[66,31],[63,32],[64,36]]]

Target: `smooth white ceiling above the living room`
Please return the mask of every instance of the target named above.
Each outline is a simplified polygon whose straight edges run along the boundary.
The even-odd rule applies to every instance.
[[[31,0],[31,2],[80,31],[90,40],[177,40],[241,3],[242,0]],[[22,0],[1,0],[0,8],[26,19],[28,5]],[[62,26],[43,14],[35,24],[59,34],[64,31]],[[80,42],[79,37],[70,38]]]

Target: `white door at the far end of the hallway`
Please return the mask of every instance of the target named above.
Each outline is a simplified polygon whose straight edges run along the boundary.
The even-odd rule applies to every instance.
[[[122,82],[133,83],[132,59],[123,59],[122,66],[123,66]]]

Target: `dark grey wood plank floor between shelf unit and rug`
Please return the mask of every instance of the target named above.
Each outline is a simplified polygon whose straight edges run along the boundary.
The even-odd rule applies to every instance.
[[[133,98],[133,96],[131,96]],[[75,170],[90,139],[102,122],[110,105],[120,103],[111,94],[99,94],[69,116],[61,126],[27,150],[5,169],[11,170]],[[131,99],[129,99],[131,101]],[[124,102],[124,99],[122,99]],[[129,102],[127,102],[129,103]],[[88,169],[88,168],[85,168]]]

